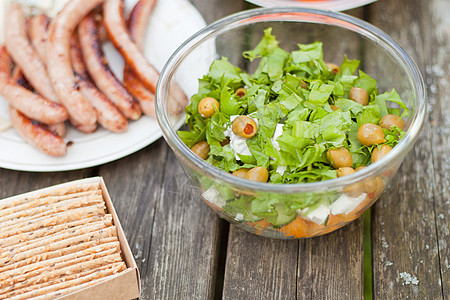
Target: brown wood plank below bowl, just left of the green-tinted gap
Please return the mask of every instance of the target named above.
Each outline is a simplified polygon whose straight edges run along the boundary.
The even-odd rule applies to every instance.
[[[300,241],[298,299],[363,299],[362,218],[330,234]]]

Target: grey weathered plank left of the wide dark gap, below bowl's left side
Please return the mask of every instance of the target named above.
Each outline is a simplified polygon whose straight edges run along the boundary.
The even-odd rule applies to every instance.
[[[169,152],[148,257],[144,299],[211,299],[221,222]]]

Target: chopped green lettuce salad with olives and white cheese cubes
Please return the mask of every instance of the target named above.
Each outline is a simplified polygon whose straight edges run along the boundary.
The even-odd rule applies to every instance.
[[[383,157],[405,134],[398,93],[379,94],[358,60],[326,63],[321,42],[298,47],[281,49],[268,28],[243,53],[258,62],[253,74],[215,60],[179,137],[213,166],[270,183],[333,179]]]

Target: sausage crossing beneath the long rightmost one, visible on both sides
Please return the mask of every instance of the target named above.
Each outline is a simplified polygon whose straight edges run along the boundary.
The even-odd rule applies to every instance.
[[[155,7],[156,0],[140,0],[136,3],[128,19],[130,37],[139,50],[143,50],[148,19]],[[125,64],[123,70],[123,83],[127,90],[138,100],[142,112],[155,116],[155,95],[147,90],[129,65]]]

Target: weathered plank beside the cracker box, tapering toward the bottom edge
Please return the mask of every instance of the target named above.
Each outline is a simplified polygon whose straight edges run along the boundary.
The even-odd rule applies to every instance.
[[[151,295],[147,265],[155,207],[162,189],[168,147],[162,140],[99,169],[138,265],[142,299]]]

